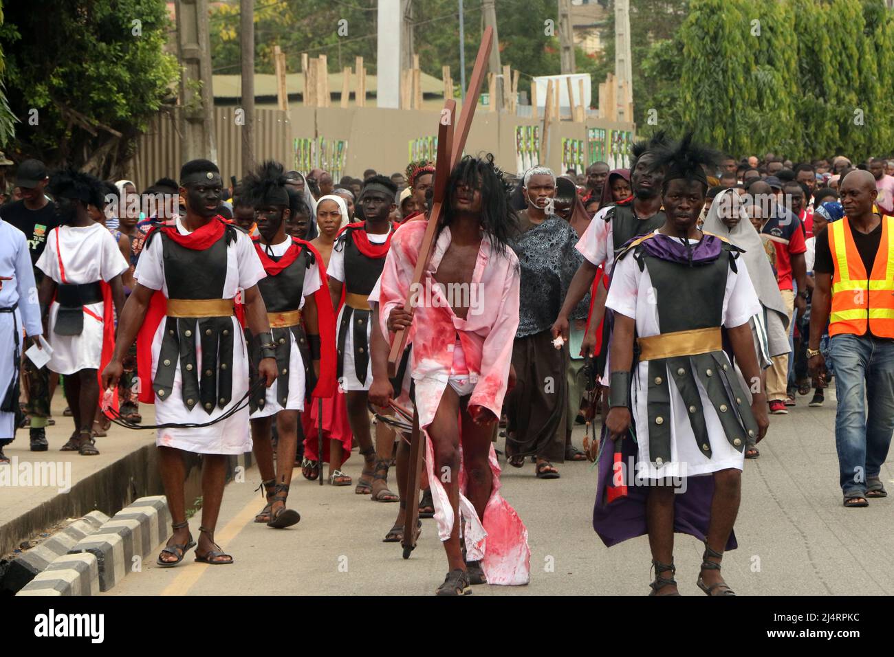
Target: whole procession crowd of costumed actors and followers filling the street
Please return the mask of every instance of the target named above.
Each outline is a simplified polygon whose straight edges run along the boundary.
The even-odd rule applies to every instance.
[[[336,184],[265,162],[228,187],[192,160],[140,193],[19,164],[0,207],[0,463],[20,427],[31,451],[48,449],[62,385],[73,430],[60,449],[83,456],[110,418],[137,426],[140,404],[155,405],[173,518],[160,567],[193,547],[232,563],[214,531],[226,456],[246,451],[266,495],[257,523],[299,522],[298,467],[396,502],[384,541],[412,543],[409,431],[394,417],[415,409],[419,517],[435,519],[448,560],[438,594],[528,581],[500,455],[543,480],[598,460],[595,530],[607,545],[649,535],[652,593],[677,593],[676,530],[704,542],[704,592],[732,594],[720,570],[743,459],[760,457],[769,415],[811,393],[822,406],[833,378],[843,503],[887,495],[894,161],[739,160],[662,133],[627,169],[516,177],[466,156],[418,280],[435,166]],[[583,451],[576,424],[602,425]],[[355,447],[356,482],[342,469]],[[203,455],[198,542],[182,451]]]

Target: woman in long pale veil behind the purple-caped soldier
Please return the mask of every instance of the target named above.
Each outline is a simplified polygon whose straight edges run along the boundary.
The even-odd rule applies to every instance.
[[[789,313],[782,300],[776,274],[773,274],[763,248],[763,240],[755,231],[736,190],[723,190],[714,198],[704,219],[703,230],[745,249],[742,257],[763,307],[762,314],[751,318],[751,333],[755,339],[758,363],[764,370],[772,365],[772,357],[790,350]],[[759,454],[755,444],[748,442],[746,459],[756,459]]]

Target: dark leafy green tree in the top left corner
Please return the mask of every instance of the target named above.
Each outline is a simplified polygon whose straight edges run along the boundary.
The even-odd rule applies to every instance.
[[[21,120],[13,156],[103,177],[118,168],[175,96],[177,63],[163,49],[170,29],[162,0],[7,8],[0,47],[10,107]]]

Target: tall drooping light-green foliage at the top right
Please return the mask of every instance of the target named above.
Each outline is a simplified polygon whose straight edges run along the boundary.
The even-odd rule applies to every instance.
[[[645,100],[657,128],[734,155],[862,159],[894,142],[894,14],[882,0],[691,0],[643,70],[661,82]]]

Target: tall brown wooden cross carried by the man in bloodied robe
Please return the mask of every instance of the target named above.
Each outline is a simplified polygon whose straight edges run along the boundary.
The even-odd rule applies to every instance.
[[[438,150],[434,168],[432,211],[428,217],[428,225],[422,238],[422,244],[419,247],[419,257],[416,262],[416,269],[413,271],[413,281],[409,286],[407,299],[403,305],[410,314],[413,313],[413,307],[410,303],[412,292],[417,290],[417,286],[421,284],[426,273],[428,261],[431,259],[432,251],[434,250],[434,236],[437,233],[437,227],[443,219],[446,204],[450,202],[450,199],[446,198],[447,179],[450,177],[453,166],[460,161],[462,151],[466,147],[468,131],[475,116],[478,94],[481,82],[485,77],[485,66],[487,65],[487,58],[492,45],[493,28],[487,27],[481,38],[481,46],[478,48],[478,55],[475,58],[475,67],[472,69],[472,77],[468,80],[466,100],[463,103],[462,114],[455,131],[456,101],[450,98],[444,101],[441,120],[438,124]],[[493,102],[493,99],[491,102]],[[388,355],[388,374],[392,377],[397,374],[398,363],[406,346],[407,330],[401,329],[394,336],[391,353]],[[413,434],[409,448],[409,472],[407,473],[407,483],[409,484],[407,486],[407,513],[403,526],[403,539],[401,541],[404,559],[409,559],[409,553],[416,547],[413,537],[416,533],[416,523],[419,515],[419,478],[422,474],[422,451],[419,414],[417,410],[414,410]],[[457,518],[457,521],[459,521],[459,518]]]

